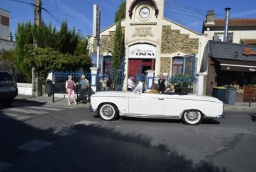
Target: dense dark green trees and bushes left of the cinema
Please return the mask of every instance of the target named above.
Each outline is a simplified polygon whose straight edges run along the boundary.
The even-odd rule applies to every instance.
[[[66,21],[59,31],[51,25],[19,23],[15,33],[15,65],[31,82],[31,69],[36,67],[44,83],[51,69],[77,69],[90,63],[88,41],[79,32],[68,30]],[[36,43],[37,47],[33,46]]]

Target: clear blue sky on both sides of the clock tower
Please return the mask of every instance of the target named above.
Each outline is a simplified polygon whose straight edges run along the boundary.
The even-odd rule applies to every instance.
[[[0,8],[10,11],[10,31],[14,34],[17,24],[33,22],[34,0],[0,0]],[[127,0],[133,1],[133,0]],[[122,0],[42,0],[42,19],[60,28],[63,20],[68,22],[68,28],[81,30],[84,36],[93,32],[93,4],[101,9],[100,30],[114,23],[115,12]],[[215,11],[215,17],[225,17],[224,8],[231,8],[231,18],[256,18],[256,0],[165,0],[164,16],[190,30],[201,33],[203,19],[208,10]]]

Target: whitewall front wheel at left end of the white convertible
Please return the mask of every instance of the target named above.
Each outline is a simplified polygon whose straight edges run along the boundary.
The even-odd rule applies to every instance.
[[[99,112],[102,120],[116,120],[118,117],[118,107],[112,103],[104,103],[101,105]]]

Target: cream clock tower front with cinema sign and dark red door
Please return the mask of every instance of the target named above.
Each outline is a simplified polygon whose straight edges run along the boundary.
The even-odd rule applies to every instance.
[[[163,0],[131,0],[126,4],[125,70],[136,79],[147,70],[159,70]]]

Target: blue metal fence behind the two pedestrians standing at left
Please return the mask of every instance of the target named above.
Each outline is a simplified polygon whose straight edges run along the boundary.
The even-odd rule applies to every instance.
[[[68,80],[68,75],[72,76],[75,83],[80,83],[81,76],[85,75],[87,80],[91,80],[91,72],[63,72],[55,71],[55,93],[66,94],[66,80]],[[75,88],[76,94],[80,93],[80,87]]]

